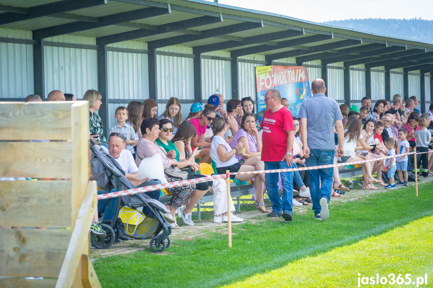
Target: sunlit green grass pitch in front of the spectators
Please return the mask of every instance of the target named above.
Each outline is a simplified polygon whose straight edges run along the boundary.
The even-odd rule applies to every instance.
[[[295,213],[293,222],[270,220],[261,215],[259,221],[233,227],[230,249],[227,236],[223,234],[226,226],[221,225],[221,230],[194,240],[172,238],[172,247],[162,254],[149,250],[121,254],[100,258],[94,266],[103,287],[218,287],[227,284],[267,287],[297,286],[298,283],[306,287],[349,287],[355,286],[358,272],[368,276],[375,275],[376,271],[422,273],[423,267],[426,267],[425,273],[430,271],[433,276],[431,218],[422,219],[426,222],[416,221],[433,214],[433,183],[420,185],[418,198],[414,197],[413,189],[391,190],[356,201],[331,204],[327,221],[313,219],[311,210]],[[410,226],[398,228],[410,222],[413,222]],[[415,236],[403,237],[407,229]],[[421,233],[426,236],[420,237]],[[413,243],[414,239],[419,245]],[[365,243],[377,243],[378,250]],[[367,253],[368,247],[372,254]],[[390,252],[377,254],[382,251],[381,247]],[[423,247],[429,249],[424,258]],[[364,258],[362,251],[366,251]],[[404,261],[412,254],[410,262]],[[381,266],[384,268],[378,269]],[[401,271],[397,271],[399,267]],[[274,277],[272,273],[290,273],[291,277],[278,276],[281,280],[269,282]],[[259,278],[266,280],[258,281]]]

